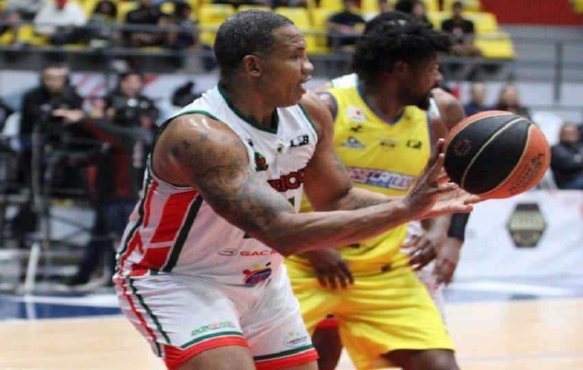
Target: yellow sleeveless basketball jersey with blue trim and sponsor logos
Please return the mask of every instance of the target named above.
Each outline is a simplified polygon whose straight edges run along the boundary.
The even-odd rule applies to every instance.
[[[368,106],[359,86],[331,88],[329,93],[336,102],[334,146],[355,186],[385,195],[407,194],[431,153],[427,112],[407,106],[396,121],[389,122]],[[310,210],[304,197],[301,211]],[[407,262],[398,253],[406,229],[401,225],[339,251],[355,272],[396,267]]]

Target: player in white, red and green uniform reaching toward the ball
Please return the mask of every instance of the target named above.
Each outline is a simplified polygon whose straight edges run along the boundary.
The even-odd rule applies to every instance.
[[[280,14],[230,16],[214,45],[219,84],[156,134],[114,282],[169,369],[316,370],[283,256],[479,201],[442,177],[442,140],[409,195],[355,188],[329,111],[302,87],[305,49]],[[317,212],[297,212],[302,190]]]

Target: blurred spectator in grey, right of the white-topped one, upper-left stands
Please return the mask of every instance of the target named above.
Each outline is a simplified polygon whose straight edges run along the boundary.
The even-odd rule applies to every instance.
[[[117,30],[117,5],[113,1],[97,1],[87,25],[86,37],[90,47],[119,45],[121,35]]]

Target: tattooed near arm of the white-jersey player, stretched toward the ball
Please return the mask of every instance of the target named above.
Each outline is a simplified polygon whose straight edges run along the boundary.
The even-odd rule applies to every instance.
[[[337,167],[335,171],[342,173],[340,162],[324,163],[320,158],[322,150],[331,147],[328,140],[331,138],[318,145],[314,163]],[[208,116],[185,114],[174,119],[160,133],[152,156],[158,177],[192,186],[217,214],[284,256],[355,243],[427,214],[438,196],[451,190],[436,184],[442,158],[433,158],[433,162],[432,171],[416,186],[416,197],[355,211],[296,214],[284,197],[249,170],[247,150],[239,137]],[[346,175],[306,181],[315,180],[329,186],[329,199],[341,199],[352,188]],[[451,200],[431,212],[471,209],[464,204],[466,199]]]

